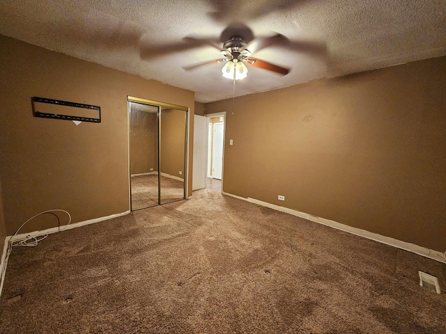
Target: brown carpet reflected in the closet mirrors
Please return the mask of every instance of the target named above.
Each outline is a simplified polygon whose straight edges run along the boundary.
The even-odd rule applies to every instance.
[[[184,198],[184,182],[161,176],[161,202],[169,203]],[[158,205],[158,175],[132,176],[132,209]]]

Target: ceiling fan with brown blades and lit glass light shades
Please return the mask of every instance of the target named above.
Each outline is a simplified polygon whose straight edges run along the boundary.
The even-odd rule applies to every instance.
[[[222,44],[221,44],[222,43]],[[314,40],[295,40],[291,41],[284,35],[277,33],[268,37],[254,38],[249,27],[245,24],[231,24],[220,35],[220,43],[215,38],[183,38],[183,42],[174,45],[160,45],[160,47],[144,48],[141,51],[141,58],[152,58],[174,51],[185,51],[203,47],[205,45],[214,47],[222,52],[223,58],[213,61],[206,61],[183,67],[185,70],[194,70],[198,67],[211,65],[215,63],[225,63],[222,67],[223,77],[229,79],[243,79],[247,76],[247,66],[258,67],[263,70],[275,72],[280,75],[286,75],[290,72],[288,67],[275,65],[268,61],[252,57],[257,51],[266,47],[280,47],[293,51],[300,51],[313,56],[325,58],[327,55],[327,47],[324,42]]]

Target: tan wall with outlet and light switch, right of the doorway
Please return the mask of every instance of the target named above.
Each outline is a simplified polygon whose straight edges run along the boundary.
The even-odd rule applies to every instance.
[[[443,57],[206,104],[224,191],[443,252],[445,83]]]

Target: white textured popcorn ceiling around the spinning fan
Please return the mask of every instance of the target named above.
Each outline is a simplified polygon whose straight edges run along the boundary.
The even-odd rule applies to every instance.
[[[254,36],[281,33],[328,47],[327,60],[278,46],[260,50],[253,56],[291,72],[249,67],[236,96],[446,55],[445,0],[0,1],[2,35],[192,90],[199,102],[232,97],[233,83],[222,64],[184,70],[222,54],[206,45],[187,49],[183,38],[219,41],[235,22]],[[142,46],[153,50],[149,58]]]

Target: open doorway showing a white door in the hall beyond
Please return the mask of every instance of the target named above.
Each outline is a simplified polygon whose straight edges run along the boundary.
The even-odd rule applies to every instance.
[[[224,161],[224,129],[226,113],[213,113],[208,118],[208,159],[206,188],[222,191]]]

